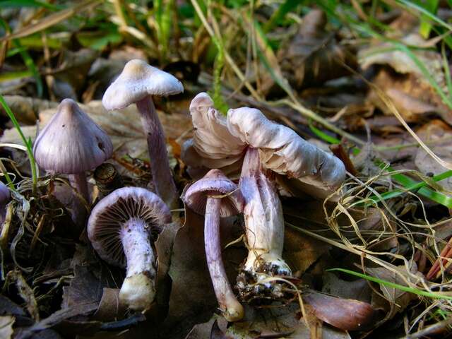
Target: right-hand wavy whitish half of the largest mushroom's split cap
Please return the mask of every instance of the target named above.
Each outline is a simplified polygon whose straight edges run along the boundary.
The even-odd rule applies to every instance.
[[[249,107],[230,109],[227,126],[233,136],[258,148],[263,167],[279,174],[306,179],[329,188],[345,180],[345,166],[338,157],[305,141],[295,131],[268,120]]]

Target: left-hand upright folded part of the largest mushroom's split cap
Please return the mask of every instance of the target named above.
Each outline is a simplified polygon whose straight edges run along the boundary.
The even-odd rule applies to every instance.
[[[213,107],[207,93],[191,100],[190,114],[194,126],[193,141],[184,144],[182,160],[190,167],[224,168],[239,162],[244,144],[227,129],[226,118]],[[240,163],[236,169],[239,169]]]

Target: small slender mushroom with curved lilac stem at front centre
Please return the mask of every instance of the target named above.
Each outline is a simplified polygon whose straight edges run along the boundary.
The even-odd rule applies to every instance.
[[[223,265],[220,217],[229,217],[242,212],[242,194],[237,185],[227,179],[219,169],[211,169],[203,179],[198,180],[184,191],[182,200],[191,210],[206,215],[204,245],[213,290],[225,319],[239,321],[244,316],[244,309],[232,291]]]

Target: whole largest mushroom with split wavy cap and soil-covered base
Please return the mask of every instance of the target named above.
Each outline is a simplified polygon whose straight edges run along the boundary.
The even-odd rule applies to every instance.
[[[242,295],[258,292],[262,286],[254,282],[268,275],[292,274],[281,257],[284,220],[276,174],[314,186],[324,195],[340,186],[345,179],[345,167],[338,158],[304,141],[292,129],[269,121],[258,109],[230,109],[224,119],[211,113],[215,109],[206,105],[207,95],[198,96],[201,95],[204,105],[195,100],[191,105],[198,107],[191,107],[194,138],[186,143],[189,147],[185,148],[182,160],[197,173],[202,167],[234,172],[243,162],[239,187],[245,200],[249,256],[238,277],[238,286]],[[221,148],[221,140],[224,150],[232,150],[231,155],[216,152]],[[273,284],[264,287],[269,287],[273,295],[279,293]]]

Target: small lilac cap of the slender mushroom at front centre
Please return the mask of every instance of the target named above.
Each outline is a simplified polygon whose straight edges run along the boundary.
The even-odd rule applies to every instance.
[[[208,196],[222,196],[221,217],[236,215],[243,210],[242,192],[219,169],[211,169],[202,179],[189,186],[182,195],[182,200],[188,208],[204,215]]]

